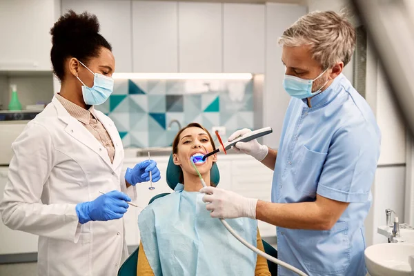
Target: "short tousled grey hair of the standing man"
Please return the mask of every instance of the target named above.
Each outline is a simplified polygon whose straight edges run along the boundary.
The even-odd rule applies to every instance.
[[[342,61],[344,66],[355,50],[355,29],[342,12],[311,12],[299,18],[279,37],[281,46],[311,46],[313,58],[330,68]]]

